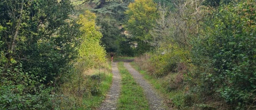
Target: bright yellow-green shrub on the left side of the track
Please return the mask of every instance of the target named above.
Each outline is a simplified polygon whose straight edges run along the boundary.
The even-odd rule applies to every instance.
[[[95,24],[96,15],[90,11],[85,11],[84,15],[79,16],[78,24],[82,25],[82,43],[79,47],[79,61],[85,61],[88,66],[98,66],[105,62],[106,51],[100,45],[102,38],[99,27]]]

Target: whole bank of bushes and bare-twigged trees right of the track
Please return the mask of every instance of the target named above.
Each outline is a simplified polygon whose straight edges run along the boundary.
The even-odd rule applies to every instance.
[[[179,109],[255,109],[255,3],[159,3],[157,24],[144,34],[154,51],[137,63],[163,79]]]

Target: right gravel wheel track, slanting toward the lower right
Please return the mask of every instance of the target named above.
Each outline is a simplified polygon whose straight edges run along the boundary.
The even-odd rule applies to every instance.
[[[149,101],[149,108],[151,110],[165,110],[163,99],[154,91],[151,84],[148,83],[138,71],[131,67],[129,63],[125,62],[124,66],[134,77],[135,81],[144,89],[146,98]]]

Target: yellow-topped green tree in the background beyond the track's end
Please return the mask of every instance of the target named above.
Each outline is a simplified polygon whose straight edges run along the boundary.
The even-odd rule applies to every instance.
[[[132,34],[132,39],[138,43],[137,50],[143,53],[150,49],[149,42],[152,40],[149,30],[153,28],[155,20],[158,18],[157,4],[152,0],[135,0],[130,3],[125,29]]]

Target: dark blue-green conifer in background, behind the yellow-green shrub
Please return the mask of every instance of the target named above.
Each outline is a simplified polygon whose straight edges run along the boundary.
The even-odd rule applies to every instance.
[[[73,0],[81,13],[84,10],[90,10],[98,15],[96,23],[101,27],[100,31],[103,35],[101,45],[105,47],[107,52],[116,52],[117,54],[126,53],[122,52],[126,49],[120,49],[119,45],[124,43],[121,43],[124,40],[122,38],[126,38],[121,25],[125,22],[124,11],[128,9],[127,6],[130,2],[133,0]],[[130,48],[127,42],[125,46]]]

